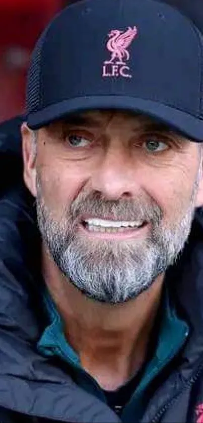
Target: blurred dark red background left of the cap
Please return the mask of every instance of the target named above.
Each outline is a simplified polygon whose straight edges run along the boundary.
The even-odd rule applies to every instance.
[[[64,0],[0,0],[0,122],[24,112],[34,44]]]

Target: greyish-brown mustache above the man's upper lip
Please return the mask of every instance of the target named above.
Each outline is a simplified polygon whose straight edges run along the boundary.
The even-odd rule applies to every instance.
[[[133,199],[107,200],[99,192],[80,193],[66,213],[71,215],[72,220],[82,215],[92,215],[104,219],[147,221],[157,225],[163,217],[161,208],[149,196],[140,194]]]

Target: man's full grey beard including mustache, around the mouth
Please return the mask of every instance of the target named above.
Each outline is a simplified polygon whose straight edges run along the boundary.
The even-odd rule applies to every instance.
[[[124,303],[147,290],[176,261],[191,229],[196,191],[197,182],[184,215],[167,226],[158,205],[142,195],[133,200],[106,201],[98,193],[81,193],[56,219],[44,203],[38,176],[38,226],[57,267],[74,286],[94,300]],[[78,231],[79,217],[84,213],[146,220],[151,222],[151,230],[146,239],[139,241],[93,241]]]

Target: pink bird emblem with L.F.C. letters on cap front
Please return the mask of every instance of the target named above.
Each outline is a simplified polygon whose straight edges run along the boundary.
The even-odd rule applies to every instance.
[[[126,65],[129,60],[128,47],[138,34],[136,26],[124,31],[112,30],[109,34],[107,48],[111,53],[109,61],[104,62],[103,77],[131,78],[130,69]]]

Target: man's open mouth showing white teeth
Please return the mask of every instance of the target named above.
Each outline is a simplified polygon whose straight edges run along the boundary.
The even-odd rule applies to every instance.
[[[88,231],[103,233],[126,233],[137,231],[146,224],[146,221],[136,220],[107,220],[99,218],[89,218],[83,220],[83,225]]]

